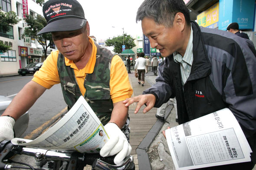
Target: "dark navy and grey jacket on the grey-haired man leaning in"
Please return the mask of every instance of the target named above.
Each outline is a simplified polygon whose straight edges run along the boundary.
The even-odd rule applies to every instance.
[[[143,94],[154,94],[154,107],[177,99],[179,124],[229,108],[254,150],[256,146],[256,50],[253,42],[233,33],[199,27],[193,29],[193,64],[181,83],[180,65],[173,55],[159,67],[156,84]]]

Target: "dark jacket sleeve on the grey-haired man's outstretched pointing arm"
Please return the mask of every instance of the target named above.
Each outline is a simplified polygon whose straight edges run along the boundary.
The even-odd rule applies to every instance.
[[[156,83],[143,92],[143,94],[153,94],[156,97],[154,107],[160,107],[170,98],[174,98],[174,93],[171,90],[171,74],[168,66],[169,62],[166,58],[164,60],[164,64],[161,64],[161,66],[158,68],[158,77],[156,78]]]

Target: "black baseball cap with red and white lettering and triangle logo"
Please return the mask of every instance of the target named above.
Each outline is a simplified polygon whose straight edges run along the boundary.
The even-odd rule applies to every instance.
[[[86,24],[84,10],[77,0],[49,0],[43,5],[43,16],[47,25],[36,35],[73,31]]]

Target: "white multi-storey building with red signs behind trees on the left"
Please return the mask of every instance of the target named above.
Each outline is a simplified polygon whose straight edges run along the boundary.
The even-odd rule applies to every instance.
[[[14,11],[21,19],[18,24],[11,26],[9,32],[0,30],[0,41],[12,46],[12,49],[5,53],[0,51],[0,75],[17,73],[19,68],[26,67],[27,64],[44,61],[43,47],[36,38],[22,38],[24,29],[27,27],[25,15],[43,16],[42,6],[35,0],[1,0],[0,7],[3,13]],[[53,50],[55,50],[54,44],[47,48],[47,55]]]

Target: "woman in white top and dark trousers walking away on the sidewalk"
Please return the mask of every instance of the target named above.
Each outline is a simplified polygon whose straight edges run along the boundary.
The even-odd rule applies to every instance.
[[[138,72],[138,83],[141,86],[144,86],[144,78],[145,78],[145,68],[146,68],[146,59],[144,58],[144,53],[139,53],[139,58],[135,63],[135,72]],[[135,74],[136,77],[136,74]]]

